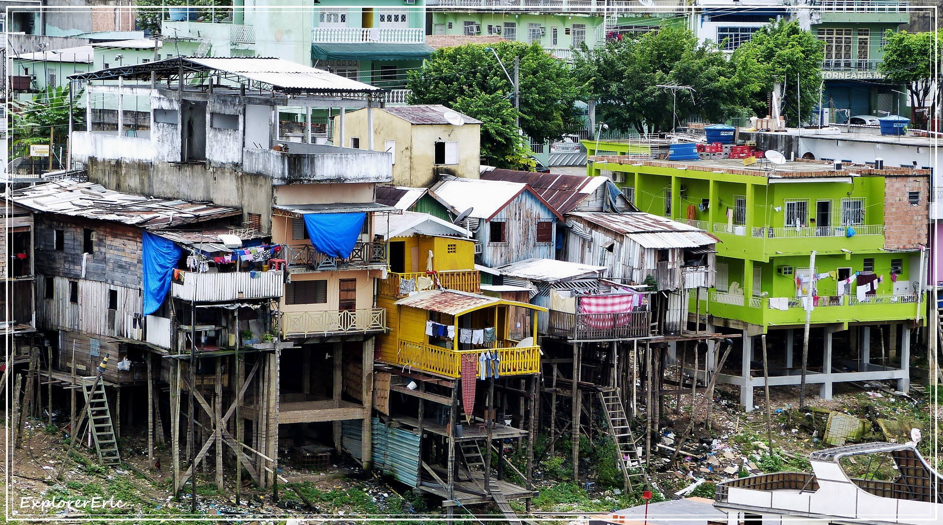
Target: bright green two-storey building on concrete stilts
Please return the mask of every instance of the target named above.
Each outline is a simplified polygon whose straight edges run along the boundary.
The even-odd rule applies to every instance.
[[[615,180],[640,211],[688,222],[720,241],[717,285],[700,291],[700,304],[692,295],[689,312],[701,313],[702,323],[706,315],[707,331],[741,336],[742,352],[735,350],[720,381],[741,386],[744,407],[753,408],[753,387],[763,385],[756,336],[768,335],[770,384],[799,383],[808,284],[797,279],[812,274],[819,279],[807,382],[819,384],[823,398],[840,381],[894,379],[908,388],[910,333],[926,310],[919,291],[928,271],[928,170],[664,161],[656,160],[656,146],[609,142],[599,149],[618,155],[594,157],[596,143],[583,144],[590,176]],[[876,289],[859,295],[858,286],[872,279],[880,279]],[[726,373],[732,367],[739,373]]]

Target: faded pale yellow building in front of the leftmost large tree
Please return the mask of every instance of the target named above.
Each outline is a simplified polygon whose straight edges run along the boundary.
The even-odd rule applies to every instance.
[[[336,145],[368,149],[368,110],[334,119]],[[428,187],[439,173],[478,178],[481,121],[440,105],[372,110],[373,149],[393,154],[393,184]]]

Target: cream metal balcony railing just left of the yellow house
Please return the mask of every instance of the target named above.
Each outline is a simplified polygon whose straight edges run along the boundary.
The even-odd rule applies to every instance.
[[[282,314],[282,332],[285,337],[384,330],[387,330],[387,311],[383,308]]]

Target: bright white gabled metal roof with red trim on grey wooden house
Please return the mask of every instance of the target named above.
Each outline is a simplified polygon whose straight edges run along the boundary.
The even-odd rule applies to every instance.
[[[475,219],[490,220],[521,192],[531,192],[538,199],[543,198],[527,184],[507,182],[505,180],[479,180],[474,178],[448,178],[432,187],[429,192],[454,208],[457,212],[472,209],[469,214]],[[546,204],[546,201],[544,201]],[[547,204],[558,218],[563,217]]]

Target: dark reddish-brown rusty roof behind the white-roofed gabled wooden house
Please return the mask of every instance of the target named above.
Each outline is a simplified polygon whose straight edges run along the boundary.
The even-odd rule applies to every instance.
[[[561,215],[575,210],[587,196],[592,195],[608,180],[604,177],[561,175],[498,168],[482,172],[481,178],[527,184]]]

